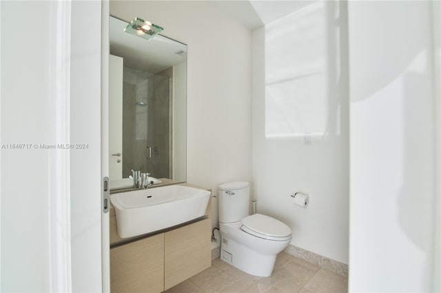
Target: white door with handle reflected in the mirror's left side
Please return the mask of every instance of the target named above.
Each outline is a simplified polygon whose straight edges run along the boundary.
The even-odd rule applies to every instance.
[[[123,58],[109,55],[109,178],[123,178]]]

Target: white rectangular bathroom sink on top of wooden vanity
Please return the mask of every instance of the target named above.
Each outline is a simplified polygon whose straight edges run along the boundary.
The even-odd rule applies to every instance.
[[[205,215],[210,192],[182,185],[110,195],[119,237],[155,232]]]

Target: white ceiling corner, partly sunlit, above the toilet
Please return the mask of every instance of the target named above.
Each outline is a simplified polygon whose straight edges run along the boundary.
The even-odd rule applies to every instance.
[[[228,17],[254,30],[285,17],[317,0],[209,0],[210,5]]]

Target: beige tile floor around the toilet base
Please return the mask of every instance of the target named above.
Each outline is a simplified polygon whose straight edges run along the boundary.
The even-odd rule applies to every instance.
[[[252,276],[214,259],[210,268],[166,292],[347,292],[347,276],[280,252],[269,277]]]

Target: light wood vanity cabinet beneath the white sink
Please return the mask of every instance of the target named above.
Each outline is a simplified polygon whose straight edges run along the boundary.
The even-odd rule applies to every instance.
[[[194,186],[192,184],[178,184]],[[159,187],[161,188],[161,187]],[[211,195],[211,190],[208,190]],[[170,228],[120,238],[110,206],[110,287],[112,292],[163,292],[209,268],[211,197],[204,215]]]

